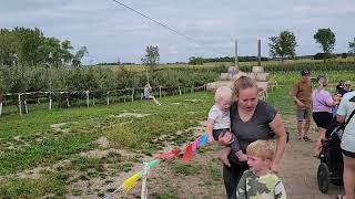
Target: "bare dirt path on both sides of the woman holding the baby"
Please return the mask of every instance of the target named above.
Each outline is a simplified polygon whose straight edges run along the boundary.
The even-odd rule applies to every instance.
[[[343,187],[331,185],[327,195],[317,186],[320,160],[312,157],[314,143],[296,140],[293,116],[283,116],[286,129],[291,133],[282,166],[278,172],[291,199],[334,199],[343,193]],[[312,124],[310,137],[317,137]],[[220,147],[209,146],[199,149],[190,165],[182,165],[181,158],[163,161],[152,170],[149,180],[149,198],[225,198],[221,176],[221,163],[217,157]],[[126,198],[140,197],[140,185]]]

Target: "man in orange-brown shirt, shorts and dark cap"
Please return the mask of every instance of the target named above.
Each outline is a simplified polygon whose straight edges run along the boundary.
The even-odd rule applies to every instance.
[[[308,130],[311,125],[311,72],[303,70],[301,72],[302,78],[294,84],[290,94],[293,97],[296,105],[296,119],[297,119],[297,135],[298,140],[304,139],[311,142],[308,138]],[[304,126],[303,126],[304,123]]]

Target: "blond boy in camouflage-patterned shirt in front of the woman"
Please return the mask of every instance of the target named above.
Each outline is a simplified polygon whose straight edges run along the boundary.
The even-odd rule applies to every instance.
[[[244,171],[236,188],[237,199],[286,199],[285,187],[271,171],[274,150],[267,140],[256,140],[246,147],[248,170]]]

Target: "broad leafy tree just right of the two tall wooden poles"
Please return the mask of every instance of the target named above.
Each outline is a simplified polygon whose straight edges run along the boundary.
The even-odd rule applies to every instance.
[[[296,36],[291,31],[282,31],[278,36],[268,38],[270,54],[273,57],[280,56],[284,62],[285,57],[294,57],[297,46]]]

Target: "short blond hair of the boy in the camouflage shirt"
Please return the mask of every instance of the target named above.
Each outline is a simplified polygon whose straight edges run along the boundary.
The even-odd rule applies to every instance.
[[[262,159],[274,158],[274,147],[268,140],[255,140],[246,147],[246,155],[260,157]]]

